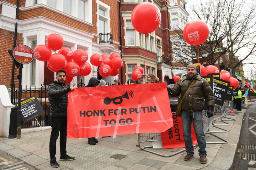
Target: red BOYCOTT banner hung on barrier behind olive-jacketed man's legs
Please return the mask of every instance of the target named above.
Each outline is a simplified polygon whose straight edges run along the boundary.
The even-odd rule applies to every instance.
[[[185,148],[181,117],[177,117],[175,112],[173,112],[172,120],[173,120],[174,126],[166,130],[165,132],[161,133],[162,146],[164,149]],[[197,139],[196,139],[196,134],[194,132],[193,124],[191,126],[191,136],[192,136],[193,145],[196,145]]]

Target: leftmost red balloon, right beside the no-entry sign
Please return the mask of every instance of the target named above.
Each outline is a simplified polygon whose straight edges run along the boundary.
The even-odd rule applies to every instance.
[[[52,55],[52,51],[50,50],[50,48],[43,44],[34,47],[33,52],[34,57],[39,61],[47,61],[50,55]]]

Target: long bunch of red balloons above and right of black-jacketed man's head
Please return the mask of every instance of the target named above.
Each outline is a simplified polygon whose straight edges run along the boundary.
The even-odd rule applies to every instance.
[[[87,63],[88,54],[81,49],[74,52],[69,47],[63,47],[64,41],[59,34],[50,34],[46,38],[47,45],[37,45],[33,52],[34,56],[39,61],[47,62],[47,67],[52,72],[64,69],[66,71],[66,83],[70,83],[73,77],[80,74],[86,76],[91,73],[91,65]],[[59,50],[58,53],[52,54],[52,50]],[[107,55],[93,54],[90,58],[90,62],[94,66],[100,66],[99,73],[102,77],[107,77],[111,73],[112,76],[117,75],[119,68],[123,66],[123,60],[118,53],[111,54],[112,57]],[[119,57],[118,57],[119,56]],[[116,59],[118,57],[118,59]],[[106,59],[103,64],[103,59]],[[107,67],[107,66],[108,67]],[[111,67],[110,67],[111,66]],[[113,71],[111,71],[113,70]]]

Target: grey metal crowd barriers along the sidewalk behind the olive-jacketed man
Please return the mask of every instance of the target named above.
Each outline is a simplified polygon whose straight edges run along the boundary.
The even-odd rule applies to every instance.
[[[231,106],[230,106],[231,105]],[[227,140],[217,136],[215,133],[218,132],[229,132],[228,130],[222,129],[218,127],[218,125],[230,125],[226,123],[225,121],[228,120],[235,120],[231,119],[230,117],[236,118],[237,116],[233,114],[230,114],[231,108],[233,108],[233,102],[226,101],[224,102],[223,106],[216,105],[214,106],[214,114],[213,117],[208,118],[207,117],[207,111],[203,111],[203,124],[204,124],[204,133],[212,135],[218,139],[220,139],[219,142],[206,142],[207,144],[221,144],[221,143],[228,143]],[[233,110],[233,109],[232,109]],[[239,113],[238,113],[239,114]],[[225,124],[217,124],[217,122],[223,122]],[[223,131],[210,131],[210,127],[214,126],[214,128],[222,129]],[[161,139],[161,133],[143,133],[143,134],[137,134],[138,138],[138,145],[140,149],[150,152],[156,155],[160,155],[162,157],[171,157],[173,155],[176,155],[178,153],[181,153],[183,151],[186,151],[185,148],[170,148],[170,149],[164,149],[164,148],[153,148],[153,142],[162,141]],[[150,144],[149,144],[150,143]],[[145,145],[149,146],[145,146]],[[194,145],[194,147],[197,145]],[[167,153],[167,154],[166,154]]]

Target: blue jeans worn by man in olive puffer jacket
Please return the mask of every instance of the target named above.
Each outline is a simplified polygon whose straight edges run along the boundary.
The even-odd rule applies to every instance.
[[[199,146],[199,156],[206,156],[206,137],[203,131],[203,114],[202,111],[187,112],[181,111],[181,120],[183,127],[183,138],[188,154],[194,155],[194,148],[191,137],[191,123],[193,122],[196,133],[197,143]]]

